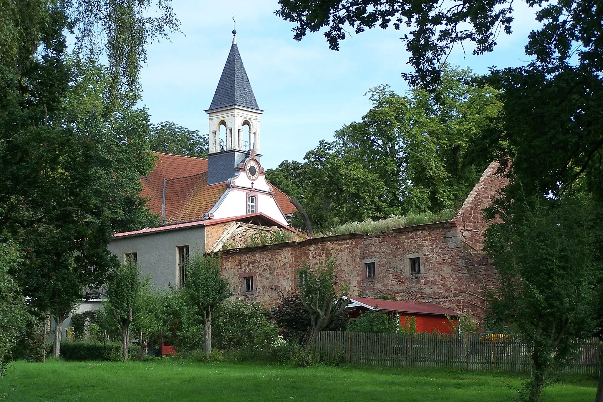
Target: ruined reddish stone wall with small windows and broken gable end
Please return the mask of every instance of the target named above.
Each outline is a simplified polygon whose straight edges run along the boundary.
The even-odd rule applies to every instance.
[[[481,252],[484,230],[482,209],[491,205],[507,184],[491,163],[450,221],[394,229],[385,234],[343,234],[300,242],[227,250],[222,269],[231,278],[235,297],[264,306],[278,304],[275,289],[294,291],[297,271],[335,260],[338,280],[350,285],[352,295],[391,295],[408,301],[434,302],[473,318],[485,316],[485,292],[496,286],[496,271]],[[411,259],[420,258],[421,273],[411,274]],[[375,263],[376,275],[367,277],[365,263]],[[244,277],[254,277],[254,289],[245,292]]]

